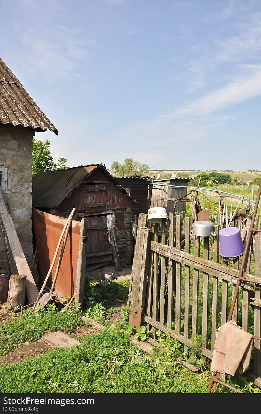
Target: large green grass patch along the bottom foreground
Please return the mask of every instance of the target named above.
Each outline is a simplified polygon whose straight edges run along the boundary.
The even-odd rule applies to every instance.
[[[47,315],[48,316],[48,315]],[[53,315],[49,315],[53,319]],[[65,318],[65,316],[63,316]],[[67,320],[67,318],[65,318]],[[205,393],[208,371],[192,373],[182,365],[182,354],[144,354],[129,337],[114,328],[78,338],[81,345],[2,365],[1,393]],[[75,383],[76,381],[76,383]],[[238,381],[236,387],[248,390]],[[74,385],[73,385],[74,384]],[[213,392],[228,392],[214,387]]]

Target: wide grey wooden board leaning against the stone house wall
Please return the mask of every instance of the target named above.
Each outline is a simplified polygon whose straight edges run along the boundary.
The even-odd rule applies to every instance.
[[[7,246],[7,254],[10,262],[10,269],[12,274],[26,275],[26,296],[29,303],[36,301],[38,296],[38,289],[34,282],[33,275],[29,269],[26,261],[21,243],[14,228],[14,222],[11,214],[7,211],[2,190],[0,190],[0,218],[2,222],[2,229],[5,232],[5,242]]]

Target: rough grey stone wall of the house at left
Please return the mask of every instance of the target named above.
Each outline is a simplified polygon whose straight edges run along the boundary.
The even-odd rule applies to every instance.
[[[32,139],[34,132],[20,127],[0,125],[0,166],[8,167],[7,200],[24,254],[33,254],[32,246]],[[0,229],[0,272],[6,269],[5,239]]]

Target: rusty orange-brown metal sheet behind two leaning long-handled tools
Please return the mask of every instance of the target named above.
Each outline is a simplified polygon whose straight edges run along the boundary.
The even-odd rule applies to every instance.
[[[40,280],[43,282],[50,268],[50,263],[53,260],[55,249],[62,229],[65,225],[66,219],[63,217],[54,216],[53,214],[44,213],[33,208],[33,221],[38,257],[38,271]],[[79,221],[73,220],[72,227],[69,231],[65,245],[65,251],[62,257],[57,281],[55,284],[55,291],[65,298],[68,296],[72,297],[74,294],[80,228],[81,223]],[[58,251],[57,259],[48,280],[48,286],[52,284],[61,247]]]

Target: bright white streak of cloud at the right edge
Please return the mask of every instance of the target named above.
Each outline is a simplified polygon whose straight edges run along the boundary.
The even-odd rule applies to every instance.
[[[207,116],[220,109],[236,105],[261,95],[261,66],[251,77],[238,78],[220,89],[213,90],[188,105],[182,106],[163,118],[184,118],[187,115]]]

